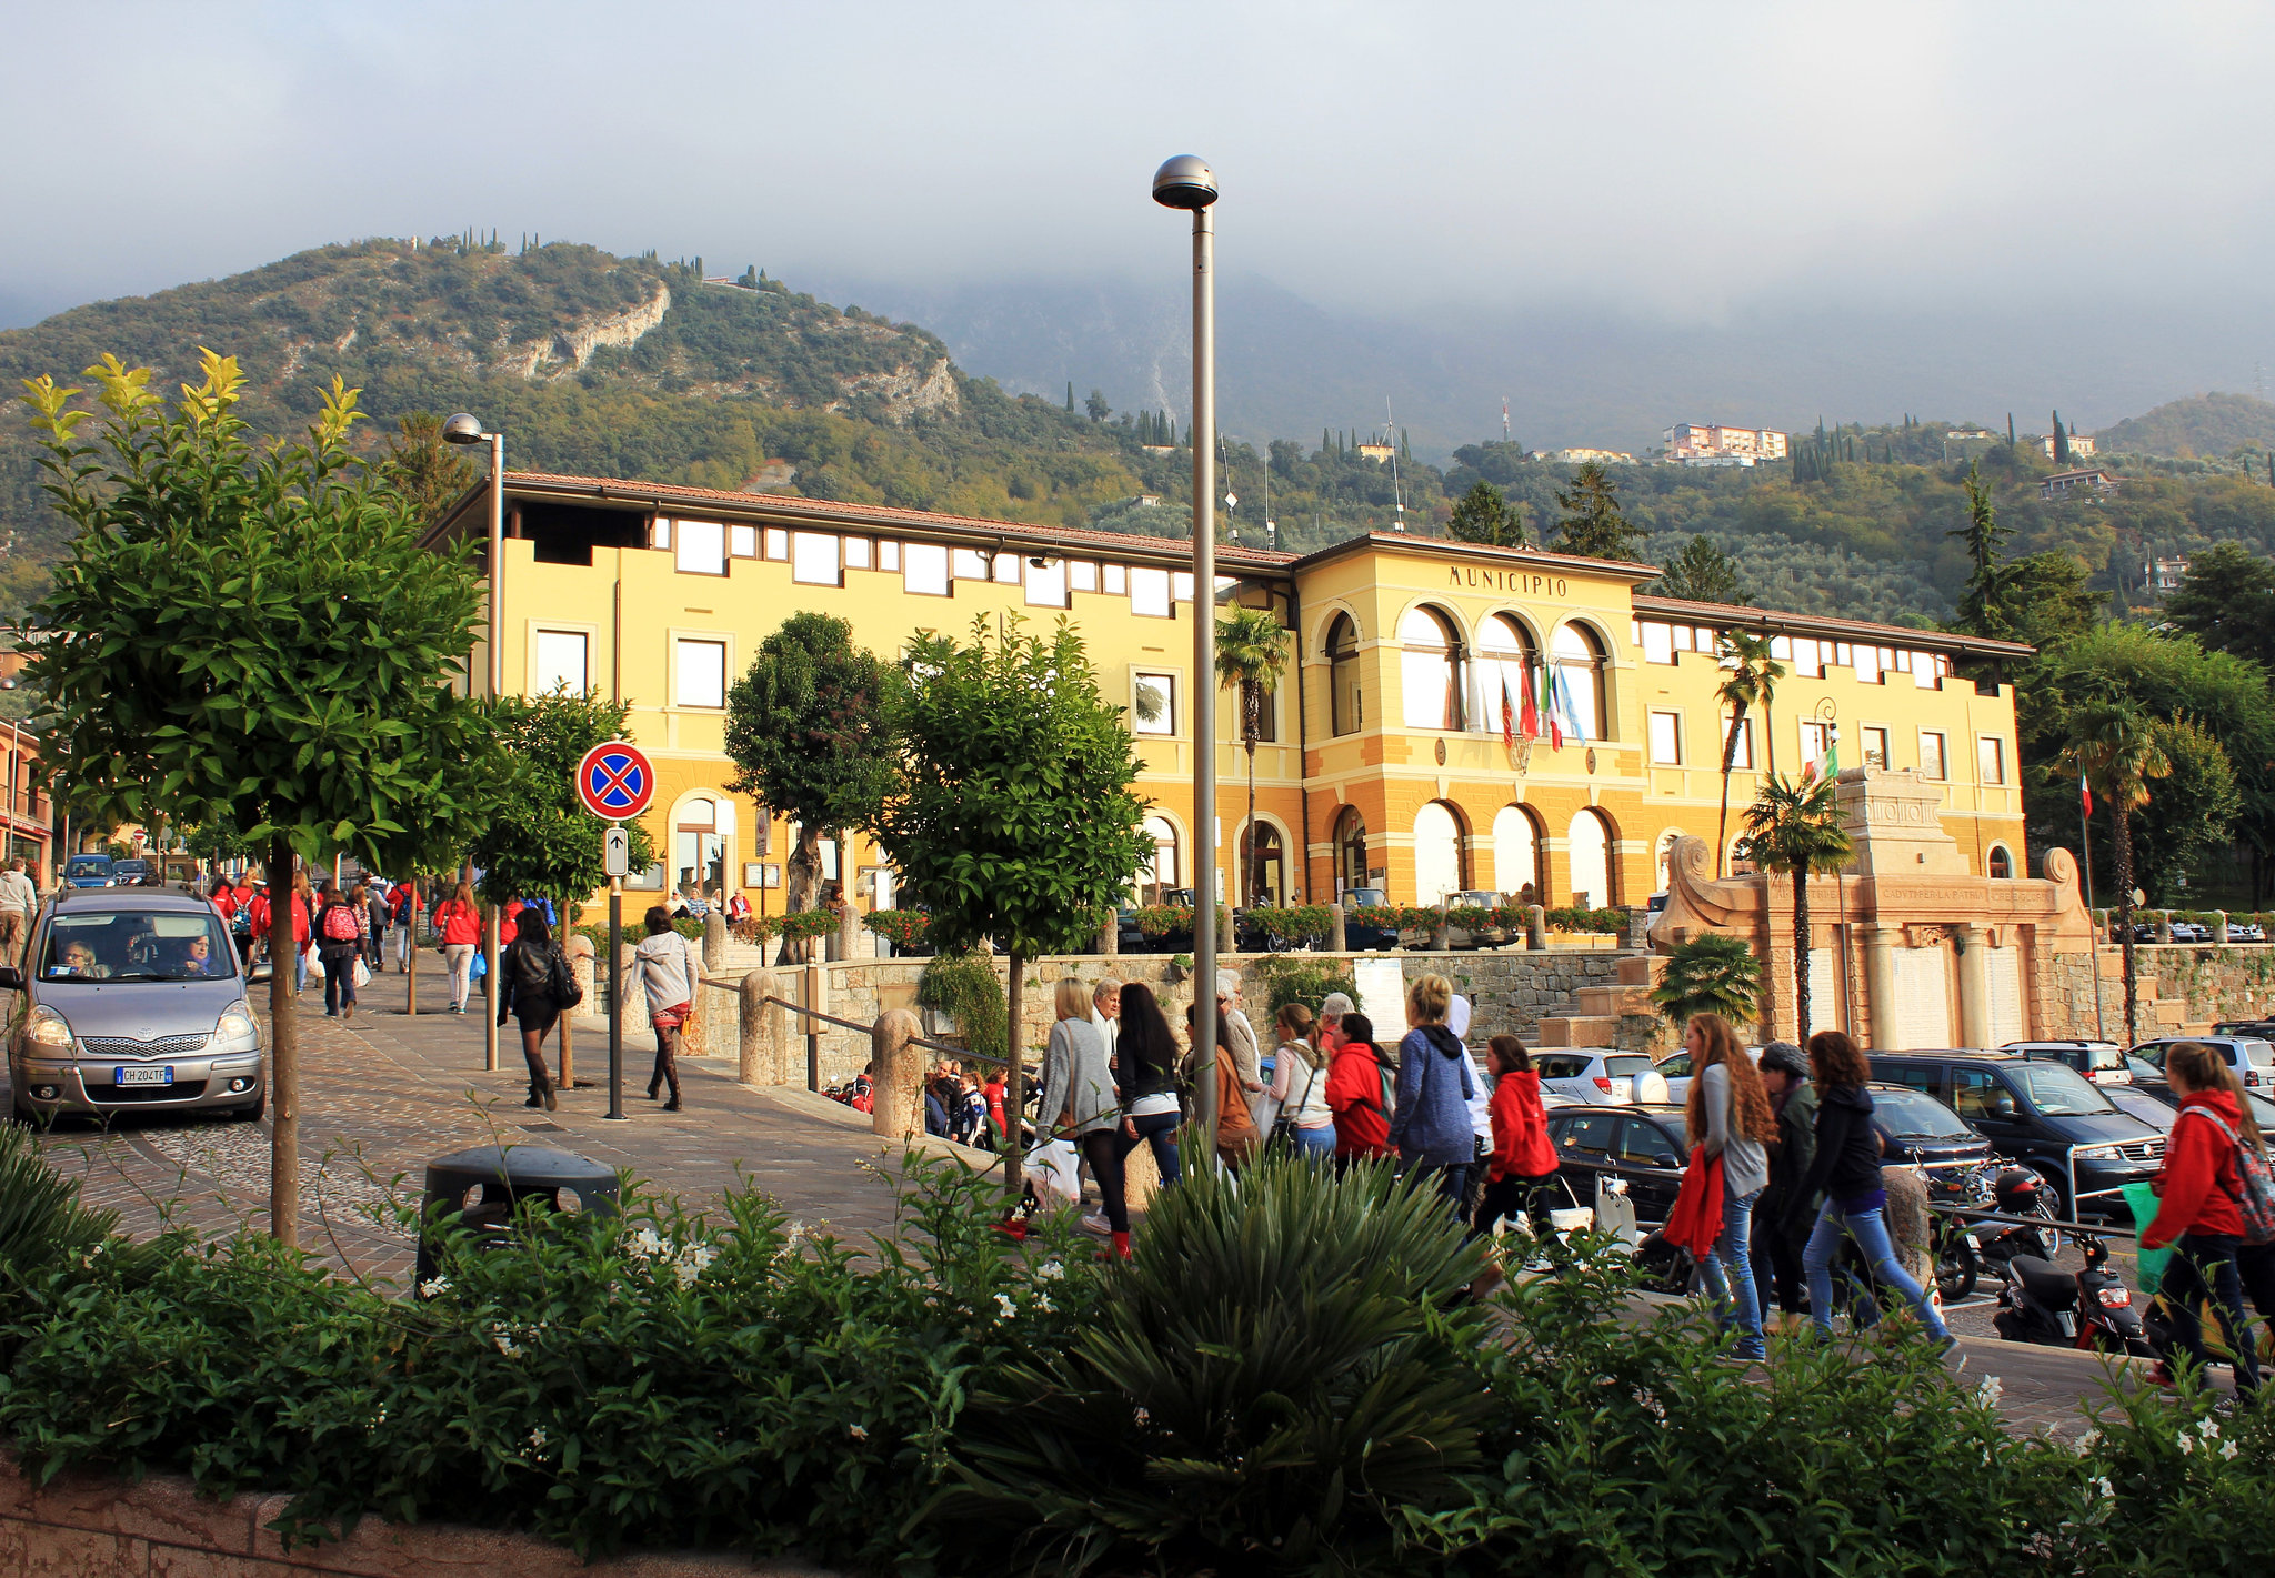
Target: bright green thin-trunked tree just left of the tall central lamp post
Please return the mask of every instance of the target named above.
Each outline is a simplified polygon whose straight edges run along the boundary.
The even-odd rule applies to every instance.
[[[901,782],[876,832],[942,953],[994,939],[1010,955],[1006,1112],[1026,1105],[1026,962],[1097,935],[1151,853],[1138,753],[1099,696],[1081,637],[1003,616],[971,641],[921,634],[908,655]],[[1056,1116],[1056,1114],[1049,1114]],[[1006,1157],[1019,1189],[1019,1148]]]

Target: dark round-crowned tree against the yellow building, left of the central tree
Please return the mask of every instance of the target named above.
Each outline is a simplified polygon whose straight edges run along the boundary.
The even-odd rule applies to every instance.
[[[894,782],[901,675],[835,614],[792,614],[726,698],[733,794],[799,823],[789,910],[812,910],[821,834],[874,828]],[[783,944],[785,957],[789,944]]]

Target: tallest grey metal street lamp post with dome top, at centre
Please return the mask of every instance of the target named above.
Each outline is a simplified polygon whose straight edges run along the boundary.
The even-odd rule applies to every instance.
[[[1194,155],[1153,171],[1153,202],[1192,214],[1192,1064],[1203,1166],[1217,1153],[1217,175]]]

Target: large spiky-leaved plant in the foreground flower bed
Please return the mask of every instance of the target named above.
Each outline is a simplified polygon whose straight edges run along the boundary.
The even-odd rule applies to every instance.
[[[1388,1166],[1197,1169],[1106,1319],[974,1396],[958,1485],[919,1517],[1001,1533],[1031,1571],[1365,1567],[1395,1508],[1445,1505],[1479,1460],[1488,1335],[1456,1298],[1479,1269]]]

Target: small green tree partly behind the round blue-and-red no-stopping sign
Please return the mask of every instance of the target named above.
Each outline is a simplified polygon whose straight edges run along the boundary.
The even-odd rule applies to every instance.
[[[491,728],[514,762],[498,805],[473,841],[473,864],[482,866],[482,903],[551,898],[569,925],[571,905],[607,887],[607,823],[585,809],[576,791],[576,769],[605,739],[628,739],[630,707],[601,696],[571,696],[566,687],[546,696],[500,696]],[[655,859],[655,844],[639,821],[626,823],[630,866]]]

